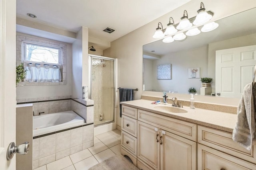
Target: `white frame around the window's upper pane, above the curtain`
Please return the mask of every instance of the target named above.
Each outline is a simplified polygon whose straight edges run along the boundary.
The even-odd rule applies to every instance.
[[[34,64],[46,64],[46,65],[52,65],[52,66],[63,66],[63,47],[55,46],[55,45],[49,45],[49,44],[43,44],[43,43],[37,43],[33,41],[24,41],[22,40],[22,50],[21,50],[21,55],[22,55],[22,63],[34,63]],[[59,56],[58,56],[58,63],[46,63],[46,62],[37,62],[37,61],[28,61],[26,60],[26,45],[37,45],[41,47],[49,47],[53,49],[58,49],[59,50]]]

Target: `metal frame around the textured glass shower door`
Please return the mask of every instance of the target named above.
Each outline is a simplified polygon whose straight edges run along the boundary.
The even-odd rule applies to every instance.
[[[98,56],[98,55],[88,55],[89,59],[89,87],[88,87],[88,97],[91,99],[91,88],[92,88],[92,57],[98,58],[98,59],[104,59],[104,60],[111,60],[114,61],[114,120],[113,121],[108,121],[99,125],[94,125],[94,127],[101,126],[101,125],[106,125],[109,123],[115,123],[116,122],[116,62],[117,59],[110,58],[110,57],[104,57],[104,56]],[[93,115],[94,116],[94,115]]]

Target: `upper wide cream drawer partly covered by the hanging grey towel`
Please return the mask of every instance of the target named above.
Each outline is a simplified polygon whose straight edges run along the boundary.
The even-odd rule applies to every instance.
[[[198,125],[197,131],[198,143],[220,150],[222,152],[236,156],[252,163],[256,162],[256,145],[254,145],[251,151],[249,151],[232,140],[232,133],[200,125]]]

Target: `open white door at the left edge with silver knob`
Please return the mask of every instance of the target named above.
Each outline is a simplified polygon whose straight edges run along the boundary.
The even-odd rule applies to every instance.
[[[16,141],[16,0],[0,0],[0,170],[15,170],[6,150]]]

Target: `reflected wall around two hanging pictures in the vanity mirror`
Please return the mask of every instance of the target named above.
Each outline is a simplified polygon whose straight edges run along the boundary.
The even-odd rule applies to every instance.
[[[206,77],[208,72],[208,47],[199,47],[188,51],[178,51],[154,60],[152,63],[152,88],[156,91],[174,91],[188,94],[188,88],[194,87],[200,94],[200,78],[188,78],[188,68],[200,68],[200,77]],[[172,64],[171,80],[157,79],[157,65]],[[144,66],[145,69],[145,66]],[[148,68],[149,70],[149,68]],[[144,75],[148,74],[147,71]],[[145,76],[145,78],[150,75]],[[147,89],[145,89],[147,90]]]

